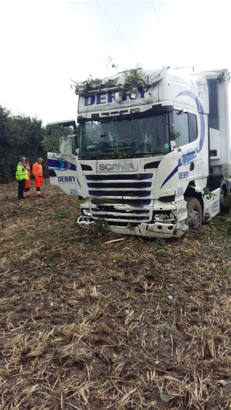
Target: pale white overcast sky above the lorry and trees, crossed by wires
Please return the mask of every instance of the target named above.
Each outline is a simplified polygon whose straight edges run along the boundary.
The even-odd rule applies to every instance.
[[[0,104],[44,123],[76,118],[71,79],[114,74],[109,55],[117,71],[231,71],[230,12],[223,0],[0,0]]]

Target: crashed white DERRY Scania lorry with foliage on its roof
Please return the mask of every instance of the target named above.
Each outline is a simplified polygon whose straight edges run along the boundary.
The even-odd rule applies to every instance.
[[[231,192],[229,72],[162,67],[145,78],[126,91],[118,73],[118,85],[79,93],[78,146],[70,137],[48,153],[50,181],[83,200],[83,226],[101,219],[119,234],[179,238]]]

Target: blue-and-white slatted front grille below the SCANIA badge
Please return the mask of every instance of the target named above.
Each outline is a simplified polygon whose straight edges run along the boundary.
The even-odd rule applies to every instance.
[[[92,218],[118,226],[151,221],[152,178],[153,173],[86,175]]]

